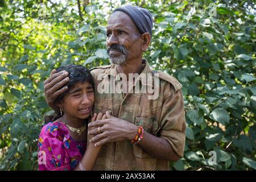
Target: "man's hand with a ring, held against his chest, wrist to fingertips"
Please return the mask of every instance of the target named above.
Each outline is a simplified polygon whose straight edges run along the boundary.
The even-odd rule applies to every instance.
[[[95,135],[90,139],[95,146],[100,146],[109,142],[120,142],[122,140],[133,139],[138,132],[138,126],[123,119],[115,118],[106,111],[106,118],[100,121],[89,123],[89,134]],[[101,133],[98,133],[100,127]]]

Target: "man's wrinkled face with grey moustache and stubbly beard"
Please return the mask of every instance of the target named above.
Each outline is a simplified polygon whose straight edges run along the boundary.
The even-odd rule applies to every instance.
[[[141,56],[141,34],[125,13],[116,11],[110,16],[106,36],[106,45],[111,63],[122,65],[129,59],[136,59]]]

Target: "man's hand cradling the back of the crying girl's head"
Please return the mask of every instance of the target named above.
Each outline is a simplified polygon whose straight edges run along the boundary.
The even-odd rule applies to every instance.
[[[44,96],[46,96],[46,102],[55,111],[57,111],[57,107],[54,105],[54,101],[61,93],[68,89],[67,86],[64,86],[67,84],[68,80],[68,72],[61,71],[57,73],[56,69],[53,69],[50,77],[44,81]]]

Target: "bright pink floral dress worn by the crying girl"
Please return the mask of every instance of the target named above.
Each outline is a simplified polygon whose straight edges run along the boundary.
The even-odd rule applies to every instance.
[[[73,140],[64,123],[47,123],[38,139],[39,171],[73,170],[84,155],[86,143]]]

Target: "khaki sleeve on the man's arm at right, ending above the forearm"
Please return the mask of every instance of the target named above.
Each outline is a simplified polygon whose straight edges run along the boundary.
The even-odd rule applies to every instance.
[[[160,137],[165,138],[177,155],[183,157],[186,121],[181,89],[165,94],[160,128]]]

